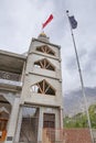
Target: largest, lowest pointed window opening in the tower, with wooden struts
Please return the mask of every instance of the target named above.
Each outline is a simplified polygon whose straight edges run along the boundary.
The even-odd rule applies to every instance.
[[[31,91],[35,92],[35,94],[55,96],[55,89],[45,79],[43,79],[40,82],[36,82],[36,84],[32,85],[31,86]]]

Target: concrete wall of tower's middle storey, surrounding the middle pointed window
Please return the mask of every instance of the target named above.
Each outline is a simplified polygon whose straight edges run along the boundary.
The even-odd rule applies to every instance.
[[[52,63],[52,65],[55,66],[55,72],[34,67],[34,62],[40,61],[42,58],[46,58],[50,63]],[[58,59],[50,58],[46,56],[44,57],[43,55],[38,55],[38,54],[31,54],[28,57],[28,63],[29,64],[26,65],[25,74],[35,73],[38,75],[50,76],[57,79],[62,78],[61,77],[61,63]]]

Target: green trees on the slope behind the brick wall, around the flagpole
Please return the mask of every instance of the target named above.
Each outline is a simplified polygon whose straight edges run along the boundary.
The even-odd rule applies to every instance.
[[[88,109],[92,128],[96,129],[96,105],[93,105]],[[77,113],[74,117],[64,118],[64,128],[87,128],[87,117],[86,113]]]

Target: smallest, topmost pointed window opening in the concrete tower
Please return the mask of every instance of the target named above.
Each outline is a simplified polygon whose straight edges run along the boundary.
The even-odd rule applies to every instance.
[[[43,45],[43,46],[39,46],[36,47],[36,51],[45,53],[45,54],[50,54],[50,55],[55,55],[55,52],[53,50],[51,50],[47,45]]]

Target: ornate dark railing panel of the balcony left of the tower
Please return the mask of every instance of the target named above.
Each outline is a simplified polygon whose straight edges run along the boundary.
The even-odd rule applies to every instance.
[[[20,81],[21,75],[0,70],[0,78],[1,79]]]

